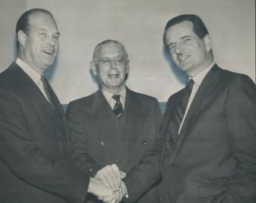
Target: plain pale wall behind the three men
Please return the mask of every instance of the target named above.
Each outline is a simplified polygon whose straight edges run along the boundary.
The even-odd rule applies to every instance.
[[[186,77],[164,53],[163,30],[171,17],[183,13],[204,20],[219,66],[255,82],[254,0],[1,0],[0,72],[15,59],[16,20],[31,8],[49,9],[59,27],[58,59],[46,74],[62,103],[96,91],[89,62],[106,39],[121,41],[128,51],[128,87],[166,102]]]

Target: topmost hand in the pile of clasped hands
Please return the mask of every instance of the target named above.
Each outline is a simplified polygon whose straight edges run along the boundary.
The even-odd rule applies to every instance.
[[[121,180],[124,179],[126,173],[118,169],[116,164],[107,165],[100,169],[95,178],[103,181],[104,185],[111,188],[112,191],[119,191],[121,188]]]

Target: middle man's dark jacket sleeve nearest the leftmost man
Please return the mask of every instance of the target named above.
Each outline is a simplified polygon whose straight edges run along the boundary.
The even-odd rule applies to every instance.
[[[82,112],[75,102],[70,102],[67,107],[67,121],[70,127],[70,135],[73,146],[72,158],[75,164],[83,171],[95,176],[101,169],[91,155],[89,155],[87,143],[85,141],[85,130],[83,126]]]

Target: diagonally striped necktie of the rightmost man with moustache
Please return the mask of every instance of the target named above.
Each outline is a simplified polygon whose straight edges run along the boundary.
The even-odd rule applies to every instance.
[[[171,134],[172,140],[175,142],[178,139],[178,129],[182,123],[182,119],[186,112],[186,106],[189,102],[189,97],[193,88],[194,81],[192,79],[189,80],[189,83],[186,84],[186,87],[184,89],[184,94],[182,95],[182,100],[178,107],[176,108],[174,112],[174,118],[172,119],[173,125],[175,126],[175,135],[174,133]]]

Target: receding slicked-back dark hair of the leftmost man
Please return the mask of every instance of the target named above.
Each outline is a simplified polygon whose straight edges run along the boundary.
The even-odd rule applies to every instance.
[[[49,16],[52,16],[52,13],[49,12],[48,10],[45,10],[45,9],[30,9],[30,10],[24,12],[20,16],[19,20],[17,21],[17,23],[16,23],[16,46],[17,46],[18,49],[20,47],[20,42],[19,42],[19,39],[18,39],[18,32],[19,32],[19,30],[23,30],[23,32],[25,34],[27,34],[27,32],[29,30],[29,27],[30,27],[30,25],[29,25],[29,17],[32,14],[39,13],[39,12],[48,14]],[[53,18],[53,16],[52,16],[52,18]]]

